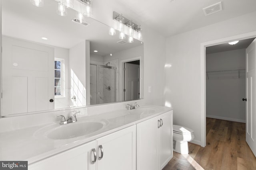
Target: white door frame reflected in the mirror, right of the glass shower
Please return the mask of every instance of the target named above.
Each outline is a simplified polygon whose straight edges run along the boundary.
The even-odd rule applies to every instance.
[[[118,101],[124,101],[124,63],[127,63],[127,62],[131,62],[131,61],[136,61],[136,60],[139,60],[140,61],[140,99],[142,98],[143,96],[143,92],[142,92],[142,56],[138,56],[138,57],[133,57],[133,58],[130,58],[130,59],[124,59],[124,60],[120,60],[120,63],[119,63],[119,68],[120,68],[120,71],[119,71],[119,100]]]

